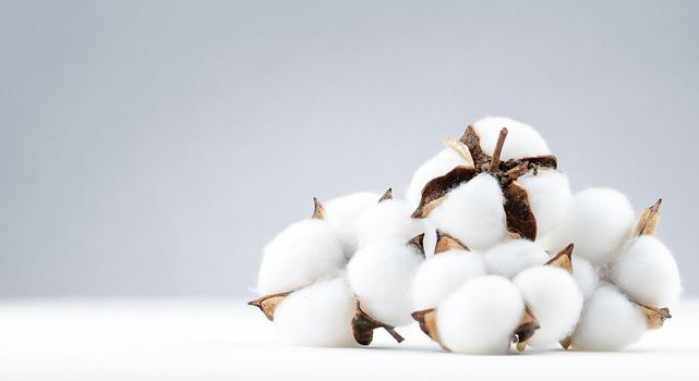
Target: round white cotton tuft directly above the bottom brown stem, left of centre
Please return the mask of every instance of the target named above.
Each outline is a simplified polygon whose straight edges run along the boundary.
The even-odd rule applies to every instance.
[[[422,260],[414,246],[399,243],[374,244],[357,251],[347,273],[364,312],[394,327],[409,323],[413,310],[410,286]]]

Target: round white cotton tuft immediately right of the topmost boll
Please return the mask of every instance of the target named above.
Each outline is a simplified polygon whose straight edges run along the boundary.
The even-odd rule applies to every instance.
[[[617,190],[587,189],[573,197],[563,226],[575,244],[576,255],[604,263],[629,237],[634,209]]]

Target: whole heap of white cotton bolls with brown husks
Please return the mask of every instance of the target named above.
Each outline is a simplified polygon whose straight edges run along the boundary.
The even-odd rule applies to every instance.
[[[623,194],[571,194],[541,135],[486,118],[423,163],[405,199],[357,193],[291,224],[265,248],[250,302],[282,341],[370,345],[418,321],[445,351],[514,346],[618,351],[659,329],[680,281]]]

